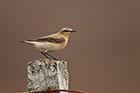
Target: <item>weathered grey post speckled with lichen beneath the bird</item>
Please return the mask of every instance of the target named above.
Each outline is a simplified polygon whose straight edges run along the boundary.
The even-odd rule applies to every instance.
[[[39,59],[28,63],[28,91],[42,91],[48,87],[68,89],[67,62]]]

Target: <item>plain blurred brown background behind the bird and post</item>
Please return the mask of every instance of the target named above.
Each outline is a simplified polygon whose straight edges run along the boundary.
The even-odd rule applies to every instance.
[[[19,40],[76,29],[66,49],[70,89],[140,93],[139,0],[0,0],[0,91],[26,91],[27,62],[43,57]]]

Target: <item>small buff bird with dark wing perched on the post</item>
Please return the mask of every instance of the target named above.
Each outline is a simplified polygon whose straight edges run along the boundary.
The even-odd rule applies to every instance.
[[[53,58],[56,60],[56,58],[49,53],[65,48],[68,43],[69,36],[72,32],[75,32],[75,30],[69,27],[65,27],[57,33],[39,37],[37,39],[22,40],[20,42],[31,44],[33,45],[33,47],[38,49],[45,57],[49,59]]]

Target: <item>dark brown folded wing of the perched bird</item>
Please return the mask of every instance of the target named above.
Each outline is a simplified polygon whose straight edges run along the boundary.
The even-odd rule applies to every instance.
[[[63,43],[63,42],[65,42],[65,39],[64,38],[45,37],[45,38],[38,38],[35,41],[37,41],[37,42],[50,42],[50,43]]]

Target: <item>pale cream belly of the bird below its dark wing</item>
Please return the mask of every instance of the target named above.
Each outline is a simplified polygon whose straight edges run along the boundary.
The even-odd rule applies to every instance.
[[[57,43],[44,43],[44,42],[36,42],[34,43],[34,47],[36,49],[39,49],[40,51],[58,51],[63,49],[66,46],[66,44],[57,44]]]

